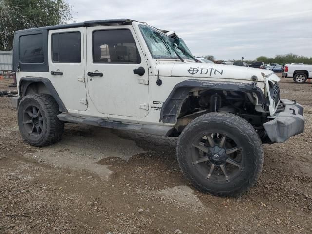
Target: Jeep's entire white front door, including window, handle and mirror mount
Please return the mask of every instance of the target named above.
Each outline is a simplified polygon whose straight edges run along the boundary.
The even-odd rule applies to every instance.
[[[86,78],[98,112],[109,118],[147,116],[148,72],[131,25],[87,28]]]

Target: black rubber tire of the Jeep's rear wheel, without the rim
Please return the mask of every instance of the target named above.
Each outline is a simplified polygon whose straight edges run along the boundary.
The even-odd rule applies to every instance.
[[[55,99],[49,94],[31,94],[27,95],[20,101],[19,109],[18,109],[18,123],[21,129],[22,117],[19,117],[20,112],[23,110],[21,109],[23,106],[23,102],[25,101],[37,101],[41,106],[41,111],[43,118],[46,120],[46,129],[44,132],[44,137],[41,137],[38,142],[31,142],[28,140],[28,136],[25,136],[25,133],[20,130],[21,135],[27,141],[27,143],[34,145],[34,146],[47,146],[58,142],[64,132],[64,122],[60,121],[57,117],[58,114],[61,112],[59,111],[59,105],[55,101]]]

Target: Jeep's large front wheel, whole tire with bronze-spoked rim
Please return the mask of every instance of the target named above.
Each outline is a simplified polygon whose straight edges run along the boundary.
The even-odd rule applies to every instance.
[[[186,126],[178,141],[177,158],[195,188],[212,195],[234,196],[257,181],[263,148],[259,135],[246,120],[214,112]]]

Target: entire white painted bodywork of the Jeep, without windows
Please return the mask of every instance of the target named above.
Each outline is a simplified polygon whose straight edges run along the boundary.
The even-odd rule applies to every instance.
[[[179,59],[153,59],[140,33],[138,22],[132,25],[94,26],[88,28],[59,29],[49,32],[49,72],[18,72],[20,81],[24,76],[48,78],[64,102],[68,113],[81,117],[98,117],[128,123],[164,125],[159,122],[162,103],[166,101],[176,84],[190,79],[251,84],[256,77],[257,87],[269,96],[265,86],[278,82],[272,71],[223,64],[195,63]],[[141,58],[140,64],[94,63],[92,33],[95,30],[128,29],[131,31]],[[51,34],[62,31],[81,32],[81,63],[60,64],[51,62]],[[133,70],[145,69],[139,76]],[[62,71],[63,76],[51,75],[51,71]],[[88,72],[102,72],[103,76],[89,77]],[[162,85],[156,84],[157,74]],[[78,81],[84,77],[85,82]],[[142,80],[147,81],[142,84]],[[82,104],[81,98],[87,103]],[[270,99],[270,98],[269,98]],[[273,102],[270,99],[270,115]],[[144,106],[146,105],[146,108]],[[142,108],[143,107],[143,108]],[[257,109],[261,106],[257,107]],[[166,124],[173,125],[173,124]]]

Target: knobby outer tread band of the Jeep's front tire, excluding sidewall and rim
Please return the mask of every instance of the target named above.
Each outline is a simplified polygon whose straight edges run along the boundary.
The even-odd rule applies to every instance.
[[[195,128],[196,126],[198,127],[198,125],[203,126],[204,124],[209,123],[213,124],[227,123],[230,126],[231,125],[234,126],[234,129],[235,131],[237,131],[237,134],[245,136],[245,138],[247,139],[247,143],[253,147],[254,154],[251,154],[254,161],[252,173],[248,176],[248,178],[245,180],[244,183],[241,183],[240,186],[237,186],[232,190],[216,191],[208,187],[205,187],[205,185],[199,184],[195,180],[195,178],[191,175],[191,173],[188,170],[186,170],[187,169],[185,165],[186,160],[183,154],[187,155],[186,153],[187,149],[185,147],[183,148],[183,145],[191,140],[187,136],[188,132],[191,129]],[[257,134],[257,132],[255,131],[254,127],[250,123],[248,123],[242,117],[239,117],[231,113],[212,112],[195,118],[191,123],[189,123],[185,127],[177,143],[177,159],[184,176],[186,176],[186,178],[191,182],[191,184],[196,189],[204,193],[209,193],[221,197],[225,196],[237,197],[246,192],[250,187],[254,186],[254,184],[258,180],[263,167],[264,154],[261,139]]]

